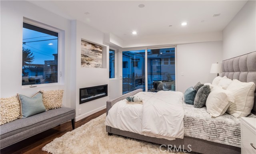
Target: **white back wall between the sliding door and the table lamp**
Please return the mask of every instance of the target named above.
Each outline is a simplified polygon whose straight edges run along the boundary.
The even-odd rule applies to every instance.
[[[177,45],[177,89],[184,93],[188,87],[212,83],[217,74],[210,73],[212,63],[222,63],[222,41]]]

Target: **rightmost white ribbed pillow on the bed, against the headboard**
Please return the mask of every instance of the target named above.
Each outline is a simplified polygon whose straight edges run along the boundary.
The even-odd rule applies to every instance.
[[[248,116],[254,104],[255,84],[234,79],[227,88],[234,94],[235,102],[228,107],[227,113],[235,118]]]

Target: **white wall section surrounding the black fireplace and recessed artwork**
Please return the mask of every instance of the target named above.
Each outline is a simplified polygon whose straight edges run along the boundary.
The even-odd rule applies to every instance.
[[[76,97],[72,97],[71,101],[76,104],[75,108],[77,121],[106,108],[106,101],[108,101],[109,97],[102,97],[100,99],[96,99],[80,105],[79,89],[109,84],[109,64],[106,60],[106,57],[109,56],[109,47],[103,43],[104,34],[102,32],[77,20],[72,21],[72,28],[74,28],[72,32],[74,32],[76,35],[73,34],[72,36],[74,37],[72,38],[72,41],[75,40],[75,42],[72,42],[72,47],[74,47],[74,49],[72,49],[72,56],[75,57],[72,57],[71,65],[75,64],[76,66],[76,71],[72,71],[74,72],[76,79],[71,81],[71,85],[76,86],[72,87],[72,89],[75,89],[76,91]],[[102,55],[105,55],[105,60],[103,61],[102,65],[105,65],[106,68],[81,67],[81,39],[96,43],[103,47]],[[81,115],[79,115],[79,109],[81,109]]]

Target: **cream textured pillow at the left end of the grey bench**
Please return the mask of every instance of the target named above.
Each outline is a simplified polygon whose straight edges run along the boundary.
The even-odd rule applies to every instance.
[[[0,125],[20,118],[20,103],[16,96],[0,99]]]

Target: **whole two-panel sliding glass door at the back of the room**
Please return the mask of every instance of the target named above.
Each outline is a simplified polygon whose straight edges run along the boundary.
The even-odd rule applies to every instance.
[[[147,57],[147,58],[146,58]],[[176,91],[175,47],[122,52],[122,93]]]

